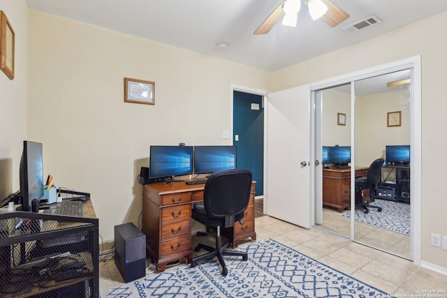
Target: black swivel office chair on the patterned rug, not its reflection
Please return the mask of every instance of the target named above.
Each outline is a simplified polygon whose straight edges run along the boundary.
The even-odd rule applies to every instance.
[[[222,275],[228,274],[223,255],[242,256],[247,261],[248,255],[242,251],[226,251],[230,245],[227,241],[221,246],[221,228],[233,227],[236,221],[244,217],[251,190],[251,172],[235,169],[214,172],[208,177],[203,193],[203,204],[195,204],[191,217],[203,223],[207,228],[216,228],[216,247],[198,244],[196,251],[204,248],[210,253],[199,255],[191,260],[191,268],[201,260],[209,260],[217,256],[222,266]]]

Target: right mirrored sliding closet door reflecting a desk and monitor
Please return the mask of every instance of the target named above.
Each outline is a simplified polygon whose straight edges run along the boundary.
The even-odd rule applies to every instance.
[[[353,156],[356,168],[369,167],[351,196],[354,239],[404,258],[411,258],[410,78],[400,70],[354,83]]]

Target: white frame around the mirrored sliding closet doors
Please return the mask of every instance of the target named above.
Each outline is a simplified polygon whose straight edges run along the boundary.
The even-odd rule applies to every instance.
[[[411,260],[416,265],[420,265],[422,256],[422,89],[421,89],[421,58],[420,56],[410,57],[399,61],[394,61],[389,64],[359,70],[354,73],[332,77],[328,80],[315,82],[310,84],[312,97],[315,91],[335,87],[337,85],[351,83],[357,80],[382,75],[384,73],[391,73],[397,70],[411,69]],[[351,94],[351,96],[353,96]],[[352,105],[351,100],[351,105]],[[352,107],[351,107],[352,108]],[[315,112],[315,111],[314,111]],[[351,119],[353,121],[353,119]],[[316,125],[316,124],[315,124]],[[353,130],[353,122],[351,122],[351,129]],[[352,131],[351,131],[352,133]],[[351,135],[353,137],[353,135]],[[354,144],[351,144],[352,146]],[[315,179],[315,177],[313,177]],[[351,179],[353,180],[353,179]],[[416,181],[419,181],[418,184]],[[353,188],[353,181],[351,181],[351,188]],[[314,184],[315,185],[315,184]],[[352,189],[351,189],[352,193]],[[315,200],[316,198],[314,198]],[[351,198],[352,200],[352,198]],[[315,204],[311,204],[315,208]],[[312,209],[312,214],[315,214],[315,209]],[[353,221],[353,218],[351,218]],[[315,222],[312,222],[315,225]],[[354,240],[353,228],[351,228],[351,240]]]

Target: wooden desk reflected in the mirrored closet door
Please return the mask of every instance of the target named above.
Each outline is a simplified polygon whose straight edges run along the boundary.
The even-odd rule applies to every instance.
[[[356,167],[356,177],[366,177],[368,167]],[[369,189],[363,191],[369,200]],[[351,207],[351,168],[323,169],[323,206],[337,208],[339,212]]]

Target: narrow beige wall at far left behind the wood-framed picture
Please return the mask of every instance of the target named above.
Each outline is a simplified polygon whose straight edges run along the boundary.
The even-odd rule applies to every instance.
[[[27,137],[28,8],[24,1],[0,0],[15,31],[15,78],[0,70],[0,201],[20,188],[19,165]]]

